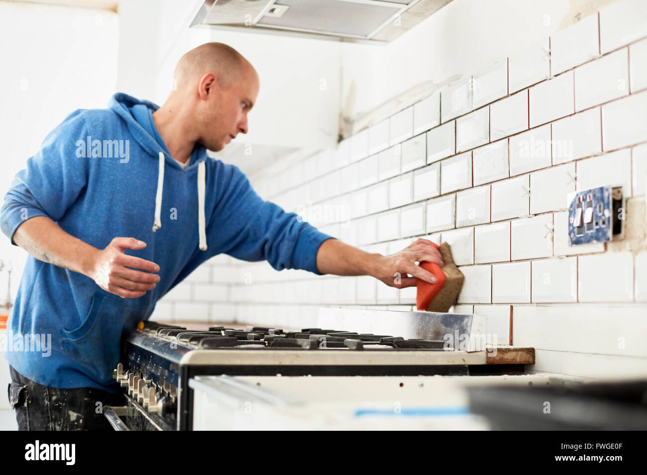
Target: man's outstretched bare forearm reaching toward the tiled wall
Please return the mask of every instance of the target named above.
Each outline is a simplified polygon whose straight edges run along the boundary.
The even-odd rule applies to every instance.
[[[379,253],[367,253],[338,239],[327,239],[319,246],[317,268],[322,274],[375,277],[375,264],[380,257]]]

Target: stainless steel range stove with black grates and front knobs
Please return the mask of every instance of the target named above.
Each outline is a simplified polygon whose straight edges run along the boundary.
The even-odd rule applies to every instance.
[[[107,408],[105,416],[117,430],[192,430],[189,382],[201,376],[469,375],[486,363],[484,349],[454,345],[459,335],[482,330],[476,315],[336,310],[320,319],[334,326],[299,331],[140,322],[113,373],[126,405]],[[356,328],[397,329],[402,336]]]

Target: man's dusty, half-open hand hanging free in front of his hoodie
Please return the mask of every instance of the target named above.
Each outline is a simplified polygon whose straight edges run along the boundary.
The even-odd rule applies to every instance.
[[[135,238],[116,237],[96,257],[91,277],[105,291],[124,299],[137,299],[160,281],[159,266],[155,262],[129,256],[126,249],[144,249],[146,243]],[[141,269],[138,271],[135,269]]]

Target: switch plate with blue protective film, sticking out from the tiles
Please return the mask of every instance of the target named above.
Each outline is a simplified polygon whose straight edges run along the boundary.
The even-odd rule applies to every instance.
[[[622,237],[622,187],[600,186],[568,195],[569,244],[607,242]]]

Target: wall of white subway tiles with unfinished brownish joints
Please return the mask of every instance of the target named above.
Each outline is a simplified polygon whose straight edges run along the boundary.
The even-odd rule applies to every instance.
[[[534,346],[536,371],[645,374],[645,19],[647,3],[615,3],[254,186],[369,252],[450,243],[465,275],[452,310]],[[628,198],[624,240],[568,246],[567,194],[609,184]],[[155,318],[298,327],[322,304],[415,308],[415,287],[372,277],[212,261]]]

